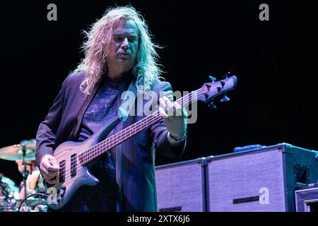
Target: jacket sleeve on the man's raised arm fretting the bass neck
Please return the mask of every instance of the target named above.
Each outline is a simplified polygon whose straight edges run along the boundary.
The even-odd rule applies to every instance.
[[[173,102],[172,96],[172,87],[168,82],[161,82],[160,91],[165,92],[165,96],[169,98],[171,102]],[[158,95],[159,97],[159,95]],[[159,105],[159,98],[158,98]],[[154,124],[151,126],[151,138],[153,138],[153,148],[155,148],[156,152],[164,155],[165,157],[181,157],[186,146],[187,140],[184,140],[178,146],[170,145],[167,139],[167,126],[165,125],[165,121],[161,119],[158,124]]]

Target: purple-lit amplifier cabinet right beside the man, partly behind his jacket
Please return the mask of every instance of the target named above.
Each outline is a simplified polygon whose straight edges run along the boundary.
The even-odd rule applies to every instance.
[[[158,211],[206,211],[206,158],[156,167]]]

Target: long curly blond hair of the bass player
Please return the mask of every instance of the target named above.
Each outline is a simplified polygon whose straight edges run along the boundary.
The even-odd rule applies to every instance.
[[[151,88],[155,78],[161,78],[163,72],[158,64],[157,48],[161,48],[151,40],[148,25],[141,14],[132,6],[116,6],[107,8],[104,16],[91,25],[90,30],[84,31],[86,41],[82,49],[85,57],[78,64],[74,73],[85,72],[85,79],[81,83],[81,91],[90,95],[95,85],[107,74],[107,51],[112,41],[112,34],[123,20],[134,20],[139,30],[139,45],[136,55],[136,64],[133,68],[136,77],[136,86],[141,86],[139,92],[146,93]]]

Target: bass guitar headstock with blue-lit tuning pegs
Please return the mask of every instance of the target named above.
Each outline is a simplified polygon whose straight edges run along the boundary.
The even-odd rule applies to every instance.
[[[214,97],[224,94],[223,98],[220,100],[221,102],[228,102],[230,100],[229,97],[226,96],[226,92],[233,90],[237,83],[236,76],[230,76],[230,73],[225,74],[225,78],[220,81],[216,81],[216,78],[209,76],[211,79],[211,83],[204,83],[201,88],[198,90],[197,99],[203,102],[209,103],[208,107],[216,108],[213,103]]]

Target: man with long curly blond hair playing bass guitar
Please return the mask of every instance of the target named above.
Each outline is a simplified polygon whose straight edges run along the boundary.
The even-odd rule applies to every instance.
[[[162,119],[112,148],[90,167],[100,180],[82,186],[63,210],[156,211],[155,152],[182,155],[187,137],[186,112],[173,102],[170,83],[160,81],[158,54],[143,17],[132,6],[108,8],[86,32],[85,57],[62,84],[37,131],[37,163],[48,184],[56,182],[59,164],[54,149],[64,141],[85,141],[117,117],[122,94],[150,91],[158,97]],[[143,100],[143,104],[154,100]],[[144,106],[143,105],[143,106]],[[134,105],[136,107],[137,105]],[[167,112],[183,112],[167,114]],[[129,111],[128,111],[129,112]],[[134,111],[133,111],[134,112]],[[108,134],[146,117],[131,115]]]

